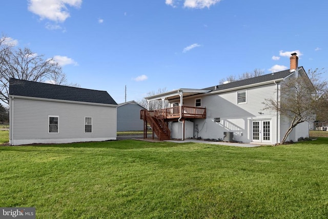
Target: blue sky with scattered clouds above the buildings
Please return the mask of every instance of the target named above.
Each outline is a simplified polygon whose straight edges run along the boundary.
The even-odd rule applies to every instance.
[[[150,91],[206,88],[221,78],[328,68],[328,1],[3,1],[0,31],[54,57],[69,83],[117,103]],[[325,76],[327,77],[327,76]]]

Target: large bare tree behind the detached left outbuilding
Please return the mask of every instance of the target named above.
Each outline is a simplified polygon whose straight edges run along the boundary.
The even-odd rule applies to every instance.
[[[53,58],[45,59],[29,48],[16,48],[0,39],[0,99],[9,104],[9,79],[65,84],[66,75]]]

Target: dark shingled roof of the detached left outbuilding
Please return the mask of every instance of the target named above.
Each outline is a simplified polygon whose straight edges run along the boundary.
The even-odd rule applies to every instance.
[[[15,78],[9,80],[9,95],[117,105],[107,91],[30,82]]]

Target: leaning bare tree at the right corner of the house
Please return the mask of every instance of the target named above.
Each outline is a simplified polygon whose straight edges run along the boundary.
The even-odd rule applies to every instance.
[[[264,109],[278,111],[280,116],[289,118],[290,127],[286,130],[281,144],[285,143],[292,130],[300,123],[313,121],[315,115],[326,110],[324,102],[327,83],[317,69],[309,70],[309,76],[289,77],[280,85],[280,101],[265,99]],[[325,102],[326,103],[326,102]],[[324,109],[325,108],[325,109]]]

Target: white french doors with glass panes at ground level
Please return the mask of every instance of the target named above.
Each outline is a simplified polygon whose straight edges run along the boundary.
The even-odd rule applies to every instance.
[[[271,121],[252,121],[252,142],[271,142]]]

